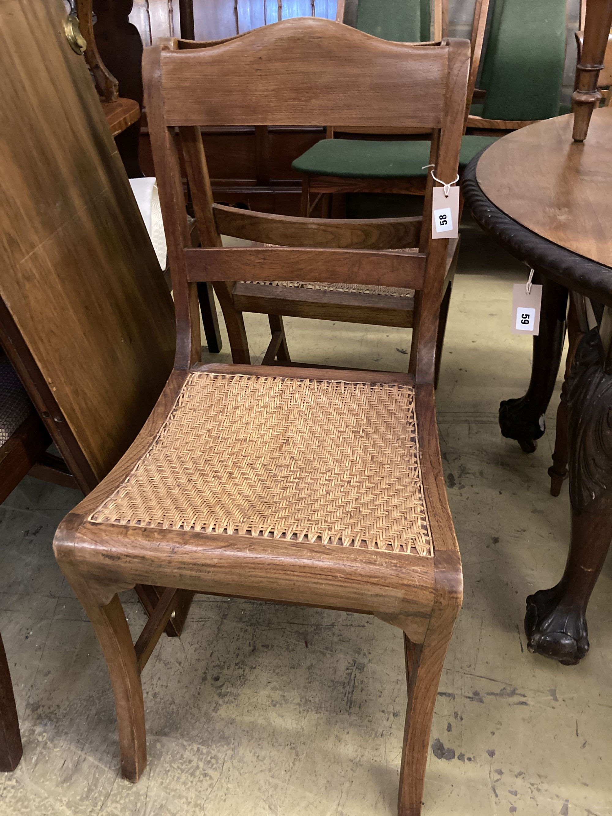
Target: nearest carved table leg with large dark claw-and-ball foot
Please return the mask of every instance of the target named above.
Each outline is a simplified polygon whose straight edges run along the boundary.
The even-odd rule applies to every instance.
[[[575,665],[587,654],[588,600],[612,539],[612,373],[597,329],[584,335],[567,389],[570,553],[561,581],[527,598],[531,652]]]

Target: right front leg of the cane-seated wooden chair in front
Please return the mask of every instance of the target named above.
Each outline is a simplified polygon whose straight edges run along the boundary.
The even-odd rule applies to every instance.
[[[401,752],[400,790],[397,816],[420,816],[423,803],[425,769],[429,756],[429,734],[436,706],[446,650],[452,635],[450,628],[428,629],[423,644],[415,644],[404,635],[408,706],[404,743]]]

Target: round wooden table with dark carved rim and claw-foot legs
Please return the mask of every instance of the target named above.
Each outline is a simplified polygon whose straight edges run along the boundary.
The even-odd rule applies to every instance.
[[[558,494],[569,458],[570,553],[560,582],[527,598],[525,619],[530,651],[565,664],[588,652],[588,599],[612,539],[612,108],[594,111],[583,143],[572,141],[573,122],[570,114],[504,136],[462,180],[478,224],[543,285],[530,386],[499,409],[503,435],[526,451],[544,432],[570,292],[570,354],[549,470]]]

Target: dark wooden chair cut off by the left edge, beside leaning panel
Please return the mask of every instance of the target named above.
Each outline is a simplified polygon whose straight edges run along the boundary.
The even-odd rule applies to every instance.
[[[6,355],[0,353],[0,503],[51,444],[51,437]],[[0,637],[0,771],[15,770],[21,735],[11,672]]]

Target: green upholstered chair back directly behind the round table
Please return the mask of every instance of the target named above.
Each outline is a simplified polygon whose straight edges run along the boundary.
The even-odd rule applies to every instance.
[[[494,0],[482,61],[486,119],[559,113],[565,64],[565,0]]]

